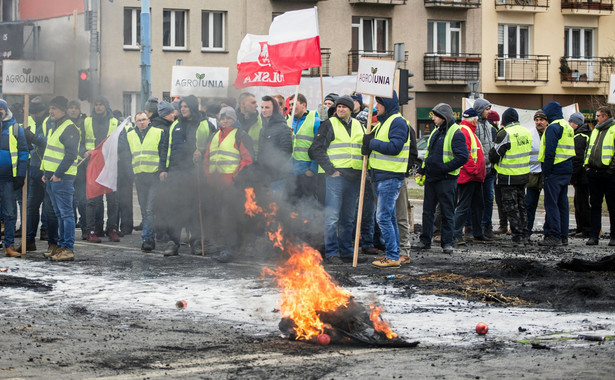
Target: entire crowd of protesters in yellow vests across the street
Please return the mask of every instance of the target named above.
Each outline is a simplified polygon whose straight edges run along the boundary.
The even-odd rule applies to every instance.
[[[120,132],[117,191],[87,197],[91,152],[122,125],[121,114],[104,97],[92,102],[87,117],[77,101],[58,96],[46,103],[36,97],[23,128],[23,120],[0,100],[6,256],[19,257],[23,248],[15,246],[16,200],[28,165],[22,244],[36,251],[40,225],[48,243],[45,256],[52,261],[74,259],[77,228],[91,243],[105,235],[118,242],[141,230],[141,249],[151,252],[162,243],[165,256],[178,255],[185,236],[191,254],[232,260],[250,240],[239,236],[249,235],[243,210],[248,187],[300,215],[305,225],[294,233],[319,249],[326,265],[353,261],[356,229],[363,253],[358,261],[373,255],[371,264],[379,268],[399,268],[409,261],[411,248],[430,248],[434,230],[445,253],[468,240],[489,243],[509,225],[512,245],[530,244],[542,189],[546,221],[539,244],[566,245],[569,184],[575,188],[576,232],[588,245],[599,243],[604,197],[615,216],[610,212],[615,121],[608,107],[598,110],[598,124],[590,131],[582,114],[566,121],[559,103],[550,102],[535,113],[536,128],[530,131],[513,108],[500,123],[486,99],[465,110],[460,123],[450,105],[441,103],[432,110],[434,128],[414,178],[425,191],[422,232],[411,246],[406,181],[417,160],[416,134],[400,114],[396,93],[376,97],[375,103],[368,120],[370,110],[358,93],[328,94],[318,111],[300,93],[257,99],[246,92],[209,107],[195,96],[172,103],[150,97],[134,115],[134,125],[124,123]],[[368,175],[357,226],[365,157]],[[138,226],[133,188],[141,210]],[[500,216],[495,231],[494,199]],[[609,245],[615,245],[611,237]]]

